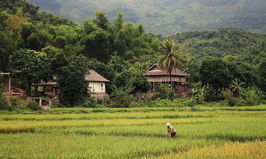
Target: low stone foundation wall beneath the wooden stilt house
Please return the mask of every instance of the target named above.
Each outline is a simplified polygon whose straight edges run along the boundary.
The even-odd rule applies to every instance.
[[[152,96],[156,92],[148,92],[148,97]],[[136,93],[137,99],[139,101],[145,101],[147,100],[147,93],[145,92],[138,92]],[[191,92],[174,92],[174,98],[191,98],[192,93]]]

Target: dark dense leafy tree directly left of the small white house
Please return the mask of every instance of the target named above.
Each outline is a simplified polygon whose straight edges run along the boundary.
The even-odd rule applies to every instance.
[[[64,55],[59,53],[56,56],[56,58],[60,57],[64,58]],[[60,85],[58,99],[63,106],[73,107],[82,104],[87,97],[87,88],[84,83],[85,76],[90,72],[87,58],[82,55],[74,57],[71,61],[64,61],[53,65],[60,66],[55,69],[56,82]]]

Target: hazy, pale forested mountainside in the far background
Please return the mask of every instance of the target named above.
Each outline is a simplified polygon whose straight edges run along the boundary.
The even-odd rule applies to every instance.
[[[265,0],[27,0],[40,11],[68,17],[81,25],[96,9],[106,11],[109,21],[124,12],[125,22],[143,21],[147,32],[164,36],[193,30],[237,27],[266,31]]]

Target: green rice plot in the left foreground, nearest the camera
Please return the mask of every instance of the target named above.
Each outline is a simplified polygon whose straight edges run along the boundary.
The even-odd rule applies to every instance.
[[[225,141],[109,135],[12,134],[0,137],[0,158],[145,158]]]

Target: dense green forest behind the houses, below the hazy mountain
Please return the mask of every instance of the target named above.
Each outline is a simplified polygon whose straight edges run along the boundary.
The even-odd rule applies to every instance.
[[[166,37],[146,33],[142,22],[125,23],[120,12],[110,22],[104,11],[96,10],[78,26],[38,9],[25,0],[0,1],[0,72],[10,72],[12,82],[27,95],[33,83],[56,76],[62,104],[81,104],[86,98],[84,75],[89,69],[111,81],[106,92],[116,106],[125,106],[117,97],[130,101],[136,92],[150,89],[143,73],[162,57],[155,53],[160,52]],[[173,50],[183,50],[179,69],[190,74],[190,86],[201,82],[217,96],[218,90],[229,88],[233,80],[244,83],[245,88],[256,86],[266,91],[265,37],[243,29],[220,28],[178,33],[167,39],[178,44]]]

